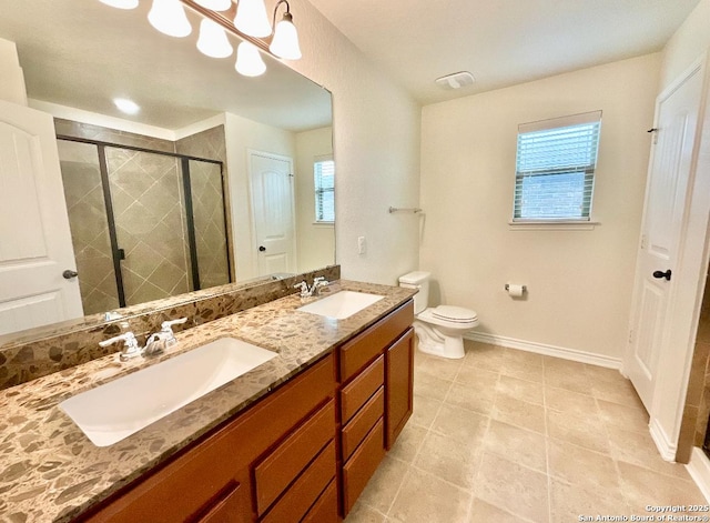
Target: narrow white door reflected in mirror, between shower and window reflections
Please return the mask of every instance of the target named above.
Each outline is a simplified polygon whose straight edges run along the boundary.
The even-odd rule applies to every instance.
[[[295,272],[293,160],[250,151],[257,275]]]

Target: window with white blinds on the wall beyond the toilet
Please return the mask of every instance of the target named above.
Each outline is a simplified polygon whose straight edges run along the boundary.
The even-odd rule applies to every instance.
[[[601,111],[518,127],[514,222],[589,221]]]

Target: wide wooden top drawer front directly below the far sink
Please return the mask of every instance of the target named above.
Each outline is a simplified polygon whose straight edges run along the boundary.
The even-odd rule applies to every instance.
[[[341,346],[341,383],[346,382],[389,345],[414,321],[414,302],[409,300],[373,326]]]

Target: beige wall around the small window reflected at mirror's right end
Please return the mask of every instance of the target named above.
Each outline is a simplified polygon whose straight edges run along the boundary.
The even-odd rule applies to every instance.
[[[298,272],[332,265],[335,258],[333,225],[314,223],[316,157],[333,154],[333,128],[326,127],[296,134],[296,238]],[[336,174],[337,178],[337,174]]]

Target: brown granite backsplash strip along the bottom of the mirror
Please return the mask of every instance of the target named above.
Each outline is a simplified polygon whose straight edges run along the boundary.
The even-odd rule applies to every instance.
[[[315,276],[339,280],[341,266],[253,284],[222,285],[124,309],[120,311],[123,318],[109,322],[89,320],[71,328],[40,328],[28,335],[13,336],[9,343],[0,340],[0,390],[118,352],[120,343],[101,348],[99,342],[122,331],[132,331],[144,343],[165,320],[187,318],[186,323],[175,325],[174,331],[179,332],[293,294],[297,292],[294,284],[302,280],[311,283]]]

